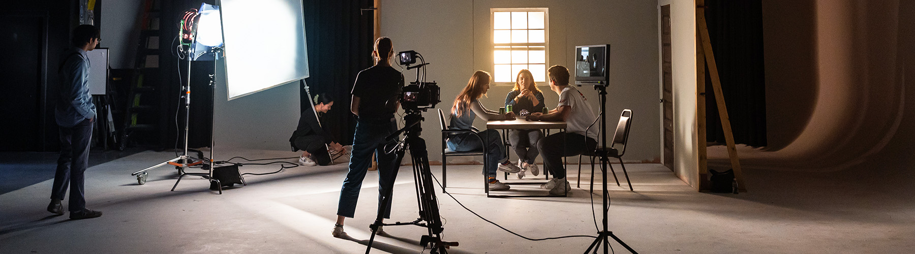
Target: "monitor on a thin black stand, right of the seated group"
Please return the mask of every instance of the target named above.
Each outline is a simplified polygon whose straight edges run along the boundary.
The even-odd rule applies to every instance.
[[[608,81],[609,45],[576,47],[576,85],[593,85]]]

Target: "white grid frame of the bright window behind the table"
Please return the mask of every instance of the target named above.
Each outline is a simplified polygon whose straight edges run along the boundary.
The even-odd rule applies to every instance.
[[[543,43],[499,43],[495,42],[495,33],[496,33],[496,18],[495,13],[497,12],[543,12],[544,13],[544,42]],[[518,29],[514,29],[518,30]],[[524,30],[532,30],[530,28]],[[533,29],[539,30],[539,29]],[[523,8],[490,8],[490,48],[488,50],[490,54],[490,62],[488,63],[490,73],[492,73],[492,81],[490,82],[493,86],[514,86],[515,78],[517,78],[518,73],[511,73],[510,82],[497,82],[495,79],[496,73],[496,59],[495,51],[503,50],[496,47],[544,47],[544,81],[538,81],[537,86],[549,86],[548,78],[546,77],[546,69],[549,69],[550,65],[550,11],[546,7],[523,7]],[[528,48],[530,50],[530,48]],[[511,64],[510,64],[511,65]],[[513,72],[513,71],[512,71]],[[536,78],[535,78],[536,79]]]

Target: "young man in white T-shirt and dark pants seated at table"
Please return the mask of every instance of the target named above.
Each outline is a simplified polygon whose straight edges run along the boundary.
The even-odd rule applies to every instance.
[[[585,95],[569,85],[568,69],[554,65],[546,73],[550,78],[550,90],[559,94],[559,105],[546,114],[533,113],[527,120],[566,123],[565,132],[546,136],[537,142],[537,149],[544,157],[544,168],[553,173],[553,179],[541,187],[549,189],[550,195],[562,195],[569,189],[569,184],[565,181],[563,157],[578,155],[597,147],[597,127],[591,126],[597,115]]]

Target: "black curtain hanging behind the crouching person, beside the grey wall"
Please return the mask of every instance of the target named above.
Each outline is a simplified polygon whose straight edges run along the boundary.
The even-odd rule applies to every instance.
[[[312,96],[322,92],[333,96],[334,105],[322,124],[334,141],[350,144],[356,127],[350,90],[356,74],[373,64],[374,12],[361,9],[372,8],[373,1],[306,0],[303,5],[310,76],[305,81]],[[309,107],[305,90],[301,93],[301,107]]]

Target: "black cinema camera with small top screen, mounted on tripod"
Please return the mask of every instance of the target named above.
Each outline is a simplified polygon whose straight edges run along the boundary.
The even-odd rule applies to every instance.
[[[425,81],[425,66],[429,63],[425,62],[423,55],[413,50],[400,52],[397,56],[400,58],[400,64],[406,66],[406,69],[416,69],[416,80],[405,86],[400,96],[404,111],[425,111],[435,108],[436,104],[441,102],[441,90],[435,81]],[[419,59],[421,64],[410,66],[416,63],[416,59]]]

